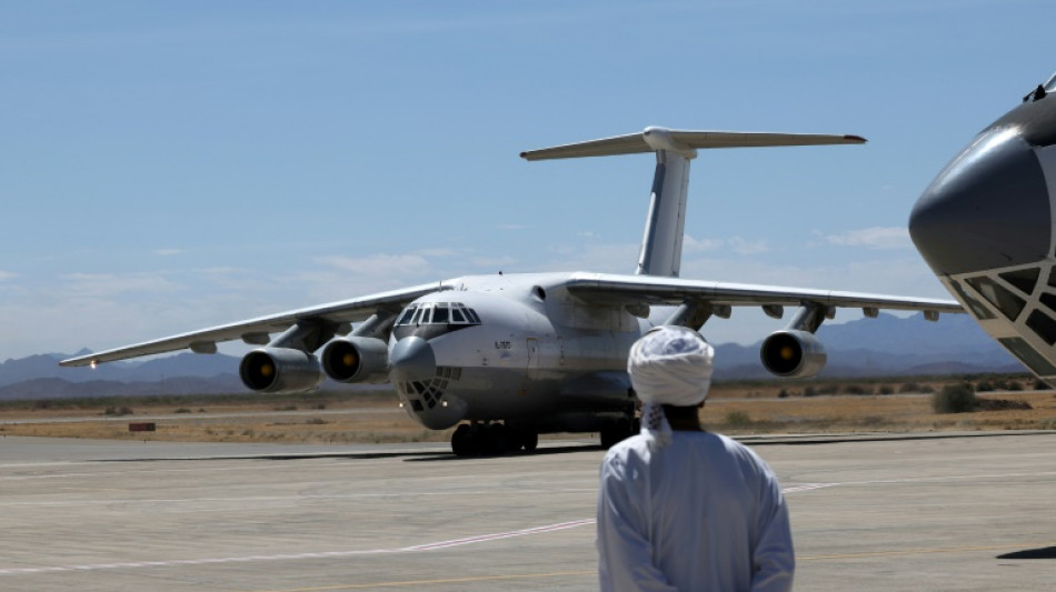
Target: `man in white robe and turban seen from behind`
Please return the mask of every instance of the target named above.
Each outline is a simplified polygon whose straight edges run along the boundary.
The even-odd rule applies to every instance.
[[[642,428],[601,463],[602,591],[791,589],[795,552],[777,476],[748,448],[700,428],[713,357],[699,333],[680,327],[654,329],[630,350]]]

